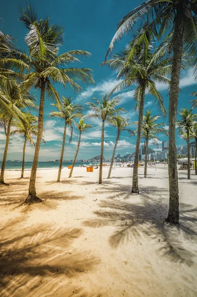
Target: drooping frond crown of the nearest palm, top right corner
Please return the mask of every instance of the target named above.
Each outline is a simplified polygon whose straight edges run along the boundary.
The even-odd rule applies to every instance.
[[[196,0],[146,0],[131,10],[118,23],[117,31],[110,43],[107,55],[114,48],[114,44],[134,28],[138,20],[143,19],[142,37],[146,31],[149,39],[152,36],[161,37],[168,31],[170,44],[174,43],[175,19],[177,14],[183,14],[184,19],[184,51],[187,51],[191,63],[197,64],[197,4]],[[107,57],[106,55],[106,57]]]

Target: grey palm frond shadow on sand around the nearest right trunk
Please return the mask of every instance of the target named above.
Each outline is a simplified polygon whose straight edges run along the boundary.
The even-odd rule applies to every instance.
[[[121,195],[121,189],[123,195]],[[197,236],[197,208],[182,203],[180,205],[181,224],[172,226],[164,222],[167,217],[168,193],[166,189],[157,187],[141,187],[140,202],[132,202],[133,196],[126,194],[125,188],[110,188],[109,191],[117,191],[112,197],[100,201],[100,209],[94,211],[97,218],[85,221],[84,225],[93,228],[114,226],[115,232],[109,238],[109,244],[116,248],[130,241],[136,244],[148,237],[154,240],[161,256],[167,257],[172,262],[193,263],[193,252],[188,250],[177,240],[183,235],[186,240]],[[108,189],[105,189],[107,194]],[[126,196],[125,196],[125,194]],[[130,198],[130,199],[128,199]],[[164,201],[166,202],[164,202]],[[176,236],[175,236],[176,234]]]

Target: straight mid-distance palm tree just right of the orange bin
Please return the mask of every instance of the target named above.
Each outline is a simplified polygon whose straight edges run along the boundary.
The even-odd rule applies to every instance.
[[[101,129],[101,154],[100,154],[100,169],[99,169],[99,184],[102,184],[102,169],[103,169],[103,151],[104,151],[104,130],[105,122],[111,122],[112,119],[118,115],[120,111],[125,111],[124,108],[116,108],[120,103],[120,99],[111,97],[106,94],[103,95],[101,102],[94,98],[96,103],[87,102],[89,108],[93,113],[88,115],[88,118],[97,117],[102,120],[102,129]]]

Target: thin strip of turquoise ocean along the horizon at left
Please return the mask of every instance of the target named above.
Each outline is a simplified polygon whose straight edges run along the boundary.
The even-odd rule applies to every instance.
[[[0,161],[0,167],[2,162]],[[75,162],[74,166],[80,167],[83,164],[90,164],[89,162]],[[72,162],[63,162],[63,167],[72,165]],[[22,161],[7,161],[5,164],[5,170],[21,170]],[[25,169],[31,169],[32,162],[25,162]],[[59,168],[59,162],[38,162],[38,169],[55,169]]]

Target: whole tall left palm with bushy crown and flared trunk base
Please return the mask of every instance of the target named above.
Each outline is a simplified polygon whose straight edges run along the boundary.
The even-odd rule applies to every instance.
[[[89,52],[84,50],[71,50],[59,55],[59,48],[63,44],[63,29],[59,25],[51,25],[48,19],[38,19],[35,9],[27,6],[21,9],[19,18],[29,30],[25,37],[28,53],[15,51],[9,58],[1,59],[9,69],[28,70],[24,80],[24,88],[28,85],[40,89],[40,106],[38,115],[38,136],[32,164],[29,194],[25,203],[42,202],[36,195],[36,172],[40,145],[43,135],[45,93],[49,98],[60,103],[58,92],[52,83],[61,83],[66,88],[68,84],[74,91],[80,92],[81,87],[74,80],[84,83],[93,83],[91,70],[87,68],[66,68],[71,62],[78,62],[75,57],[87,57]],[[14,56],[14,57],[13,57]]]

